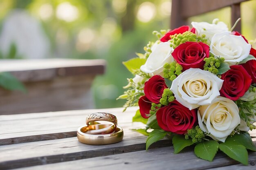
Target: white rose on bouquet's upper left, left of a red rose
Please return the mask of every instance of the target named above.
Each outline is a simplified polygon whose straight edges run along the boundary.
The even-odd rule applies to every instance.
[[[144,73],[149,73],[150,76],[162,75],[164,64],[173,62],[171,53],[173,48],[170,47],[170,42],[162,42],[157,44],[149,55],[146,63],[140,67]]]

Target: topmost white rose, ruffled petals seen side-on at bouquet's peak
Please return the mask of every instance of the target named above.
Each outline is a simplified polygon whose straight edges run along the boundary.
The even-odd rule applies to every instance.
[[[227,25],[224,22],[218,22],[218,19],[214,19],[212,24],[208,22],[191,22],[191,24],[196,30],[196,35],[206,35],[205,38],[209,40],[209,43],[211,42],[211,38],[213,37],[214,34],[229,32]]]

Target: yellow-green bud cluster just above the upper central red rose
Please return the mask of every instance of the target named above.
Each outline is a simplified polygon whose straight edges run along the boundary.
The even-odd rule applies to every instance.
[[[186,31],[184,33],[174,34],[171,35],[171,47],[175,49],[177,46],[179,46],[182,43],[185,42],[203,42],[207,44],[207,39],[205,38],[205,35],[196,36],[194,33],[191,33],[190,31]]]

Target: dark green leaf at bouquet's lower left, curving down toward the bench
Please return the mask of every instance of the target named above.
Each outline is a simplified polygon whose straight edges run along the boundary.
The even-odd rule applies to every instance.
[[[164,130],[155,129],[150,132],[147,140],[146,140],[146,150],[148,150],[149,146],[156,141],[163,139],[166,136],[167,132]]]

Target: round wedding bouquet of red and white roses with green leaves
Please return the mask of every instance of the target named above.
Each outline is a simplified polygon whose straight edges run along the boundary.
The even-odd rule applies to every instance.
[[[146,149],[171,137],[174,152],[195,146],[212,161],[218,150],[245,165],[256,151],[248,133],[256,121],[256,50],[243,35],[218,19],[154,31],[149,42],[124,65],[128,79],[125,109],[139,105],[133,121],[145,135]]]

